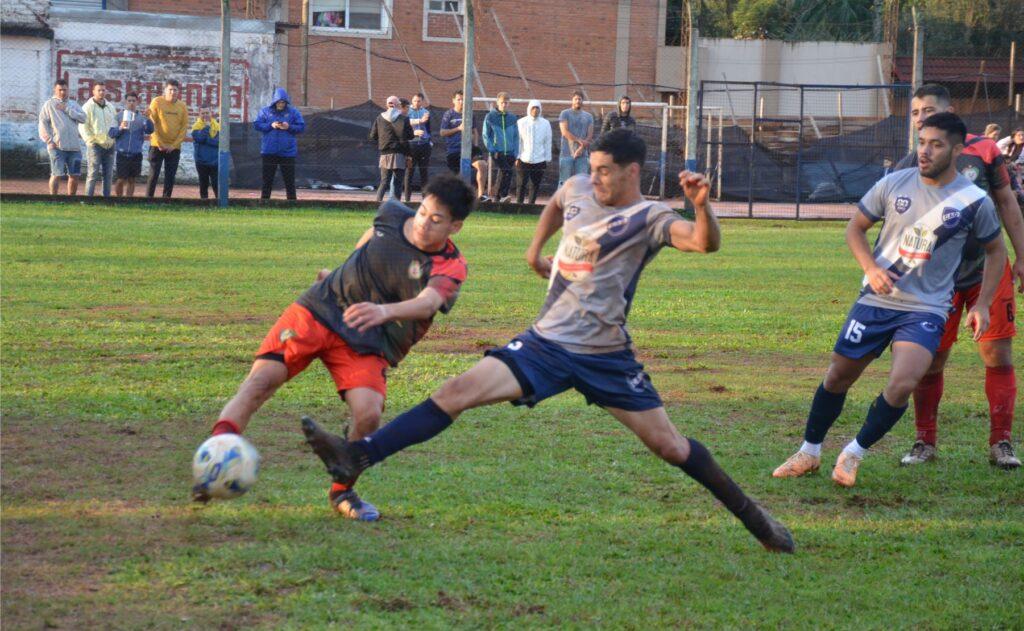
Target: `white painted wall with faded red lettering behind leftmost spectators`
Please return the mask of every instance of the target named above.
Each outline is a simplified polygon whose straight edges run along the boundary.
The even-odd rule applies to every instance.
[[[97,79],[105,82],[110,99],[120,109],[126,92],[138,92],[147,102],[163,92],[166,79],[173,78],[181,82],[181,98],[191,116],[204,101],[219,107],[218,18],[54,6],[49,26],[52,42],[3,38],[0,116],[5,151],[34,151],[44,160],[36,114],[57,77],[68,80],[71,95],[79,102],[89,98],[90,85]],[[269,101],[280,72],[274,38],[271,23],[232,23],[232,120],[250,121]],[[179,177],[195,178],[188,143],[182,146]]]

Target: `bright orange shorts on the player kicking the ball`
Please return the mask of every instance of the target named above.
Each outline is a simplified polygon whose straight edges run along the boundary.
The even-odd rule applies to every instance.
[[[371,388],[387,395],[387,360],[359,354],[345,340],[313,318],[304,306],[293,303],[281,314],[263,338],[257,360],[276,360],[288,368],[288,378],[298,375],[319,357],[334,379],[338,391]]]

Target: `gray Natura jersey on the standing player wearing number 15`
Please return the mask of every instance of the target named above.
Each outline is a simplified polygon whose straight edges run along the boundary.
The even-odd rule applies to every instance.
[[[876,294],[865,277],[857,302],[869,306],[945,317],[968,238],[985,244],[999,236],[992,200],[961,174],[945,186],[931,186],[916,169],[896,171],[879,180],[859,206],[872,221],[885,220],[874,261],[899,277],[888,296]]]

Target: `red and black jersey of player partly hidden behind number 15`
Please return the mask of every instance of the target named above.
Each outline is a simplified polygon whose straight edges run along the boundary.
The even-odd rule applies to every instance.
[[[912,152],[896,163],[894,171],[918,168],[918,154]],[[1010,172],[995,141],[986,136],[967,134],[964,151],[956,158],[956,170],[991,197],[993,191],[1010,185]],[[955,289],[966,290],[981,283],[985,266],[985,248],[977,239],[964,245],[964,260],[956,270]]]

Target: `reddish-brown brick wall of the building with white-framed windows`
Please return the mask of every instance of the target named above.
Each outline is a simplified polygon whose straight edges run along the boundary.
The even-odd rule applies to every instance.
[[[209,0],[128,0],[131,10],[219,14],[219,7]],[[301,0],[281,0],[283,22],[301,20]],[[394,28],[390,36],[373,36],[372,52],[390,57],[371,57],[372,94],[368,95],[366,39],[364,36],[325,37],[309,36],[309,92],[307,102],[312,107],[347,107],[367,100],[378,103],[389,94],[409,95],[419,90],[410,65],[404,60],[399,36],[413,60],[423,67],[421,79],[434,104],[446,104],[452,91],[461,87],[462,45],[454,42],[424,41],[424,1],[392,0],[391,12]],[[242,16],[244,0],[232,0],[236,15]],[[266,6],[261,3],[260,7]],[[615,30],[617,0],[594,0],[587,3],[557,3],[546,0],[520,0],[497,2],[482,0],[476,7],[477,68],[488,96],[508,90],[513,96],[528,96],[512,62],[508,48],[502,41],[492,16],[497,11],[519,64],[531,81],[534,95],[539,98],[567,98],[572,90],[566,87],[548,87],[543,84],[573,84],[569,70],[571,62],[585,83],[607,84],[607,87],[586,86],[592,99],[614,97]],[[263,9],[265,10],[265,9]],[[648,84],[641,91],[630,89],[634,97],[653,98],[655,90],[654,64],[656,58],[657,0],[634,1],[631,8],[629,39],[629,81]],[[257,17],[262,17],[258,14]],[[453,18],[449,15],[429,14],[429,33],[432,36],[458,36]],[[299,29],[289,29],[283,39],[289,48],[287,88],[295,101],[302,100],[302,51],[299,48]],[[500,73],[510,78],[496,77]],[[430,77],[428,75],[433,75]],[[443,79],[452,79],[444,81]],[[641,94],[642,92],[642,94]]]

